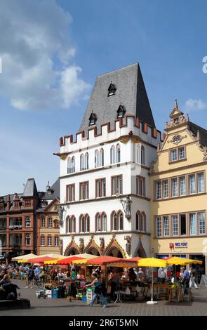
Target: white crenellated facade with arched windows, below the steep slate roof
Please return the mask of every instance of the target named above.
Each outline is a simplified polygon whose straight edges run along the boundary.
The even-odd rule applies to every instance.
[[[71,136],[66,136],[60,143],[60,204],[65,209],[63,225],[60,227],[60,239],[62,239],[62,251],[65,255],[86,252],[113,256],[122,254],[123,257],[133,257],[138,254],[149,256],[151,229],[148,171],[152,161],[156,160],[156,147],[161,140],[161,135],[155,128],[152,131],[150,126],[142,123],[136,125],[135,122],[135,117],[129,115],[116,121],[114,131],[109,131],[108,124],[105,124],[102,125],[100,135],[95,134],[95,128],[90,128],[88,136],[83,137],[82,133],[77,133],[76,141],[72,142]],[[141,127],[145,127],[145,132]],[[112,157],[112,146],[115,149],[115,157]],[[120,154],[118,154],[118,148]],[[144,153],[141,157],[143,149]],[[101,157],[98,159],[97,150],[99,152],[102,150],[103,159]],[[83,159],[81,161],[81,154],[84,155],[82,157],[85,164]],[[86,165],[86,157],[88,157],[88,165]],[[115,163],[111,164],[112,161]],[[82,170],[81,167],[86,169]],[[114,176],[121,176],[122,191],[121,178],[117,178],[119,191],[114,187],[113,192],[112,177]],[[144,178],[145,191],[143,190],[144,181],[140,180],[138,184],[137,176]],[[102,181],[102,192],[105,192],[103,197],[98,197],[99,189],[96,183],[98,179],[105,180]],[[86,182],[88,182],[88,187],[83,185],[81,188],[80,183]],[[68,185],[73,185],[73,187],[68,188]],[[81,189],[83,189],[83,194],[86,193],[86,199],[81,196]],[[145,196],[139,196],[140,193]],[[125,217],[121,204],[121,199],[125,199],[126,196],[131,197],[132,200],[130,220]],[[137,223],[138,211],[142,215],[143,226]],[[116,216],[113,218],[113,212],[117,213],[118,228],[114,227]],[[104,219],[106,224],[102,223],[102,232],[98,231],[98,213],[107,216],[107,220]],[[87,221],[85,232],[81,232],[83,228],[80,224],[80,216],[81,218],[89,216],[89,232]],[[76,228],[69,227],[68,220],[74,218]],[[84,220],[82,220],[82,225],[83,223]]]

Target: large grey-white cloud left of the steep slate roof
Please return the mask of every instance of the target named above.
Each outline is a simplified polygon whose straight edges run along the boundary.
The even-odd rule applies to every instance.
[[[1,0],[0,93],[13,107],[65,108],[86,98],[91,86],[71,64],[71,22],[55,0]]]

